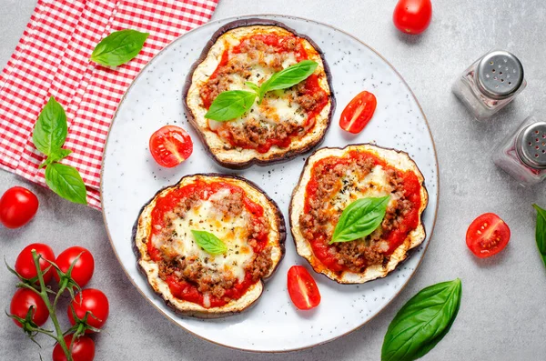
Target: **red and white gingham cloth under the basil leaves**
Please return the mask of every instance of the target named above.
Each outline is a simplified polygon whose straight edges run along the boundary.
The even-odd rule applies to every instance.
[[[38,0],[25,33],[0,74],[0,167],[45,186],[44,157],[32,129],[50,96],[68,119],[65,147],[100,208],[100,167],[106,135],[127,87],[147,62],[178,35],[206,23],[218,0]],[[126,65],[89,61],[95,45],[122,29],[149,33]]]

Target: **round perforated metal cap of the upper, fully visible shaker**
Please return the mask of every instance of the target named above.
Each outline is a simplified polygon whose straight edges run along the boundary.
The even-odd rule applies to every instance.
[[[476,67],[478,87],[492,99],[505,99],[523,83],[520,59],[507,51],[495,50],[484,55]]]

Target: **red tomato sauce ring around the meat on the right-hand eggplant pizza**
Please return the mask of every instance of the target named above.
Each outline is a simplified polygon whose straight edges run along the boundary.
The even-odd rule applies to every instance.
[[[336,158],[335,163],[329,163],[331,162],[332,158]],[[319,188],[319,175],[316,174],[314,170],[321,164],[328,163],[328,165],[326,165],[325,167],[325,169],[328,169],[329,167],[333,167],[339,164],[349,164],[352,159],[358,158],[371,159],[374,166],[381,165],[385,170],[392,169],[397,172],[397,174],[401,176],[404,180],[404,196],[412,203],[410,211],[406,216],[404,216],[404,220],[401,222],[399,227],[383,235],[389,243],[389,250],[385,253],[386,256],[389,256],[398,246],[400,246],[404,242],[410,231],[419,226],[419,210],[421,205],[420,181],[417,175],[415,175],[413,172],[402,172],[399,169],[388,165],[384,160],[369,152],[350,151],[349,156],[346,155],[341,158],[327,157],[320,159],[317,163],[315,163],[313,169],[311,170],[311,179],[308,181],[308,184],[306,186],[304,212],[309,212],[310,201],[316,196],[317,189]],[[313,236],[314,239],[310,244],[311,248],[313,249],[314,255],[319,258],[319,261],[322,262],[322,264],[328,269],[335,272],[347,270],[347,267],[339,265],[337,258],[329,253],[329,248],[333,247],[333,245],[328,245],[328,242],[325,242],[325,235],[316,234]]]

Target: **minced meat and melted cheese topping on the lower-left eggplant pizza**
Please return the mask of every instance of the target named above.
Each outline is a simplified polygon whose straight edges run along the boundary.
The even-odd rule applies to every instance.
[[[263,243],[260,236],[269,232],[268,222],[263,216],[250,214],[242,196],[221,190],[203,200],[194,194],[167,212],[165,226],[152,238],[162,255],[157,262],[160,278],[176,276],[204,295],[229,301],[226,291],[248,275],[253,282],[267,276],[272,265],[271,247],[258,243]],[[228,247],[227,254],[208,255],[188,238],[192,237],[190,229],[225,235],[222,240]]]

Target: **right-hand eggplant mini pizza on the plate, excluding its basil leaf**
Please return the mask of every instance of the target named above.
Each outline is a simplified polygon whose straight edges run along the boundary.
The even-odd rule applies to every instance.
[[[332,243],[349,205],[385,196],[384,217],[368,236]],[[292,236],[299,256],[316,272],[341,284],[361,284],[387,276],[423,242],[427,203],[423,175],[408,154],[376,145],[322,148],[309,156],[294,189]]]

